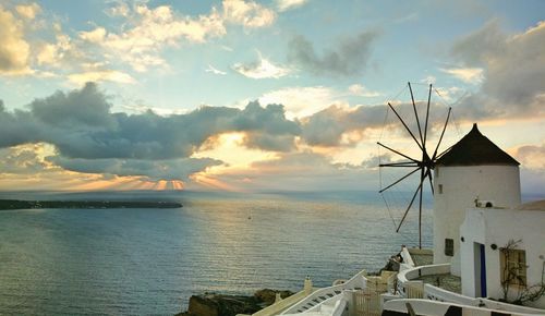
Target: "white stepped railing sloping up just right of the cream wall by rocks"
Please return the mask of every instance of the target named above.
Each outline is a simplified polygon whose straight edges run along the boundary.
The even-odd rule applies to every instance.
[[[366,281],[367,281],[367,279],[364,277],[365,275],[366,275],[365,270],[362,270],[359,274],[356,274],[355,276],[353,276],[350,280],[348,280],[346,283],[318,289],[318,290],[314,291],[312,294],[310,294],[308,296],[306,296],[304,300],[302,300],[299,303],[295,303],[291,307],[287,308],[283,313],[281,313],[281,315],[300,313],[298,311],[304,309],[303,307],[308,305],[311,302],[314,303],[314,304],[312,304],[313,305],[312,307],[314,307],[324,301],[327,301],[329,299],[332,299],[334,296],[342,294],[342,291],[344,291],[344,290],[353,290],[356,288],[364,289],[366,285]],[[340,293],[338,293],[338,292],[340,292]],[[322,297],[326,297],[326,299],[324,300]],[[316,302],[314,300],[316,300],[318,302]],[[304,311],[307,311],[307,309],[310,309],[310,307],[307,307]]]

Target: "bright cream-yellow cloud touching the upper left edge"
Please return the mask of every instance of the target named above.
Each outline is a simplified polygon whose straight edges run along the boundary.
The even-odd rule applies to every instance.
[[[24,38],[23,22],[0,5],[0,74],[33,73],[29,68],[31,46]]]

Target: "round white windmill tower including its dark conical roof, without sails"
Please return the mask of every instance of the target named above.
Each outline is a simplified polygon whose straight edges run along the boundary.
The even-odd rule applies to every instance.
[[[459,271],[460,224],[471,207],[520,205],[519,162],[481,134],[476,124],[434,168],[434,263]]]

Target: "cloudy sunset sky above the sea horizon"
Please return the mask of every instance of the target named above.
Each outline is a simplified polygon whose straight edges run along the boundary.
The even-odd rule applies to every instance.
[[[543,194],[544,12],[4,0],[0,190],[377,190],[378,161],[401,158],[377,142],[420,155],[387,106],[415,131],[410,82],[422,124],[433,85],[429,139],[450,107],[443,149],[476,122],[521,162],[523,193]]]

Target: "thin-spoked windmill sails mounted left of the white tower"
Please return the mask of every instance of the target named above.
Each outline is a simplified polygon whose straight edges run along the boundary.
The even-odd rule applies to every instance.
[[[436,160],[441,156],[441,154],[438,153],[439,146],[441,145],[445,131],[447,130],[447,125],[449,122],[449,118],[451,114],[451,108],[448,107],[448,111],[445,118],[437,118],[435,119],[436,121],[440,121],[439,123],[436,123],[435,126],[437,127],[437,132],[440,130],[440,136],[438,137],[438,141],[436,142],[431,142],[431,130],[432,126],[428,125],[429,123],[429,108],[431,108],[431,100],[432,100],[432,92],[433,86],[429,84],[429,90],[427,92],[427,102],[419,102],[421,106],[420,111],[417,109],[416,102],[414,100],[414,94],[412,90],[411,83],[408,83],[409,86],[409,92],[411,95],[411,104],[405,105],[405,113],[400,112],[398,106],[392,106],[391,102],[388,102],[388,110],[391,110],[397,120],[397,126],[403,131],[403,134],[405,136],[409,136],[411,139],[411,144],[413,146],[412,154],[409,153],[402,153],[403,150],[401,149],[396,149],[393,146],[389,146],[386,144],[383,144],[382,142],[377,142],[379,148],[384,148],[387,150],[387,153],[393,157],[397,157],[396,160],[393,161],[388,161],[388,162],[383,162],[382,160],[379,161],[379,169],[380,169],[380,174],[384,173],[383,170],[386,169],[391,169],[396,168],[396,171],[401,170],[402,175],[398,175],[395,180],[389,182],[386,186],[383,186],[383,181],[380,180],[380,190],[379,193],[384,194],[385,192],[391,191],[393,187],[397,185],[400,185],[402,182],[410,182],[410,179],[413,182],[413,185],[416,186],[416,189],[412,187],[412,192],[410,192],[412,195],[408,202],[407,206],[403,206],[403,215],[402,218],[399,222],[395,222],[396,224],[396,232],[399,232],[401,226],[407,219],[407,216],[409,211],[412,208],[417,208],[419,210],[419,247],[422,247],[422,203],[423,203],[423,193],[424,193],[424,186],[429,183],[431,192],[434,194],[434,185],[433,185],[433,170],[435,167]],[[435,90],[437,93],[437,90]],[[437,93],[438,94],[438,93]],[[425,106],[425,114],[421,113],[423,111],[422,107]],[[398,107],[398,109],[396,109]],[[412,108],[412,109],[411,109]],[[444,123],[443,121],[444,120]],[[414,154],[416,153],[416,154]],[[416,179],[416,180],[414,180]],[[383,195],[384,196],[384,195]],[[385,199],[386,200],[386,199]]]

